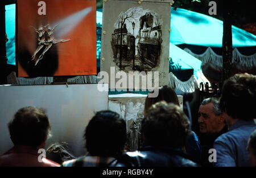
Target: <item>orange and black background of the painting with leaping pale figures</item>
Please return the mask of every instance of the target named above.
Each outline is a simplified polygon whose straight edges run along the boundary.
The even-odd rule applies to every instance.
[[[95,0],[44,0],[46,15],[39,15],[39,0],[18,0],[18,77],[46,77],[56,75],[95,75],[96,72],[96,1]],[[88,7],[92,9],[85,16],[70,19],[74,14]],[[75,16],[77,18],[77,16]],[[70,41],[53,44],[42,60],[35,63],[31,57],[38,48],[38,33],[34,28],[65,22],[53,32],[55,39]],[[61,21],[62,20],[62,21]],[[61,37],[58,32],[71,29]],[[72,27],[72,28],[71,28]],[[42,54],[40,50],[37,57]]]

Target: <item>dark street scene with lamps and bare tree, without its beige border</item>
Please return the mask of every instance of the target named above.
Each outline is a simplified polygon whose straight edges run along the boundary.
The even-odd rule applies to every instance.
[[[110,44],[115,65],[123,71],[152,71],[159,66],[162,46],[161,15],[142,7],[121,12]]]

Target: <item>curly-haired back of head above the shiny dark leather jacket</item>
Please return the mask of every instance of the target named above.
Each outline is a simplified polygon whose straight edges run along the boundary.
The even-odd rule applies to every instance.
[[[188,132],[189,121],[181,108],[166,101],[152,105],[142,120],[145,146],[181,149],[185,146]]]

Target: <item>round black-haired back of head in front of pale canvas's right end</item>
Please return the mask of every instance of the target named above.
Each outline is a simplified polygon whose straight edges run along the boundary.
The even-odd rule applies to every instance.
[[[89,121],[84,138],[86,149],[93,156],[122,154],[126,143],[126,124],[118,113],[100,111]]]

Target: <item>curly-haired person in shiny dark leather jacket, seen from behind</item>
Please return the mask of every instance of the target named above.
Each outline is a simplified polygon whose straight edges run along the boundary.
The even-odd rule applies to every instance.
[[[131,167],[195,167],[184,147],[189,121],[179,106],[160,101],[145,113],[142,120],[143,146],[126,152],[117,166]]]

